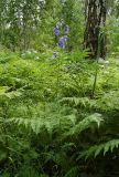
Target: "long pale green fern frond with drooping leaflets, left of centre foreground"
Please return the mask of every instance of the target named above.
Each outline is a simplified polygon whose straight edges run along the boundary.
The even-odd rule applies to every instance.
[[[25,128],[31,128],[35,134],[45,128],[50,135],[52,135],[53,131],[62,129],[65,131],[68,127],[75,124],[75,115],[64,116],[62,114],[53,113],[54,115],[48,115],[44,113],[40,117],[13,117],[9,118],[8,122],[12,122],[18,124],[19,126],[24,126]]]

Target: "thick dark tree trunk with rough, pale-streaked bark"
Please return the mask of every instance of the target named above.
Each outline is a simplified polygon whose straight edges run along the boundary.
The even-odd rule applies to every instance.
[[[89,49],[89,58],[105,59],[106,35],[100,29],[106,23],[106,0],[85,0],[85,22],[84,48]]]

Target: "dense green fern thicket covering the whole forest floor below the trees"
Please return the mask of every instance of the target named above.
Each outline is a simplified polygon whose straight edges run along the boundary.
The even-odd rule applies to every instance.
[[[1,177],[119,175],[119,61],[86,55],[2,50]]]

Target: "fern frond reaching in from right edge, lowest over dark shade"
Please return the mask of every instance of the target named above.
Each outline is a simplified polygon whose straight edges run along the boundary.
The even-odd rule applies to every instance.
[[[99,154],[104,152],[104,155],[108,152],[113,152],[115,148],[119,147],[119,139],[112,139],[104,144],[94,145],[89,147],[87,150],[80,153],[77,159],[84,158],[87,159],[91,156],[97,157]]]

